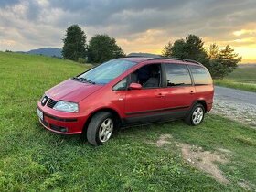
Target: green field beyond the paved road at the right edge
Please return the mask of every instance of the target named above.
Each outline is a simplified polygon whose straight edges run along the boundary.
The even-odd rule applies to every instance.
[[[215,80],[216,85],[256,92],[256,65],[240,65],[224,80]]]

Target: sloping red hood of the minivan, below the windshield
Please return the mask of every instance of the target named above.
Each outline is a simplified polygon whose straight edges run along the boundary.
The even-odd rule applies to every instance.
[[[93,85],[76,80],[65,80],[53,88],[49,89],[46,94],[55,101],[72,101],[79,102],[91,95],[93,92],[100,90],[102,85]]]

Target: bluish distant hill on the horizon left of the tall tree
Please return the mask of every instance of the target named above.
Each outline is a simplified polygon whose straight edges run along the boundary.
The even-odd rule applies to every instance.
[[[37,49],[32,49],[29,51],[17,51],[19,53],[27,53],[31,55],[43,55],[43,56],[48,56],[48,57],[57,57],[57,58],[62,58],[61,55],[61,48],[37,48]]]

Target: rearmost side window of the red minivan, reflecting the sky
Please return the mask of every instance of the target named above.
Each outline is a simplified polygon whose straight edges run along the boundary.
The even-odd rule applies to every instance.
[[[208,85],[212,83],[207,69],[196,65],[189,65],[189,68],[191,69],[195,85]]]

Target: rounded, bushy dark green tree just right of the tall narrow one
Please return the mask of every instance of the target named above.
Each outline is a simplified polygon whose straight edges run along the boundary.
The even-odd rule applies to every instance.
[[[88,46],[88,61],[101,63],[110,59],[124,57],[123,49],[116,44],[114,38],[108,35],[91,37]]]

